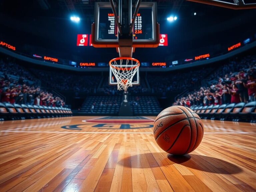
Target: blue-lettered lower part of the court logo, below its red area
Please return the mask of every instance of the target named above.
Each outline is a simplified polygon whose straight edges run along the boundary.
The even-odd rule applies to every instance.
[[[153,125],[149,124],[111,124],[111,123],[90,123],[90,124],[78,124],[78,125],[65,125],[62,129],[70,130],[83,130],[87,128],[97,128],[97,129],[143,129],[152,128]]]

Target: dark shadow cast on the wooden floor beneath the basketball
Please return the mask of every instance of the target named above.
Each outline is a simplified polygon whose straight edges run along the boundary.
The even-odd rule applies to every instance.
[[[168,167],[180,164],[187,168],[218,174],[236,174],[242,172],[237,165],[203,155],[188,154],[183,156],[171,155],[167,153],[145,153],[126,157],[118,162],[125,167],[149,168]]]

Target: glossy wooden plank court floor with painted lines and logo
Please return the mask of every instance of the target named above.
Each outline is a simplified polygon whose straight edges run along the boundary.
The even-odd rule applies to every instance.
[[[168,155],[155,117],[0,122],[0,191],[255,191],[256,124],[203,120],[191,154]]]

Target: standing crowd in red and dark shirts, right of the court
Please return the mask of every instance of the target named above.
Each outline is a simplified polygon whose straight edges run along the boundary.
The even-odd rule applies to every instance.
[[[207,79],[211,83],[208,87],[178,98],[173,105],[190,107],[256,101],[256,56],[236,58]]]

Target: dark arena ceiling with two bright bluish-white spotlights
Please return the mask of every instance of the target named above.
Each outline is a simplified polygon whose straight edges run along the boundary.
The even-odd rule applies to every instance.
[[[108,2],[108,0],[101,1]],[[233,2],[233,0],[226,1]],[[156,2],[160,32],[168,34],[169,46],[157,54],[151,54],[155,53],[155,50],[149,49],[145,52],[144,49],[138,49],[135,53],[138,57],[149,53],[151,55],[149,58],[175,59],[182,55],[193,55],[194,52],[209,46],[213,50],[218,50],[224,44],[232,45],[238,39],[256,33],[255,9],[230,10],[186,0]],[[89,47],[76,47],[76,35],[91,32],[94,3],[94,0],[23,0],[15,3],[2,0],[0,38],[7,39],[11,43],[21,43],[21,46],[28,51],[54,50],[59,57],[66,57],[65,59],[82,59],[88,56],[97,58],[99,53],[105,54],[105,49],[97,51],[94,49],[92,52]],[[70,21],[72,14],[81,18],[79,25],[74,25]],[[177,15],[177,21],[169,23],[167,17],[170,15]],[[116,56],[114,49],[110,52],[113,53],[111,57]]]

